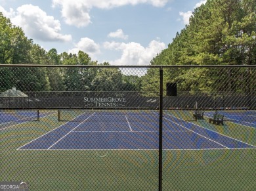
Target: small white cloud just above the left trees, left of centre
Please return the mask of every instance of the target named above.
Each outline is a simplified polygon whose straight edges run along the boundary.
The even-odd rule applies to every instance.
[[[80,41],[74,45],[74,49],[71,49],[68,52],[77,54],[78,51],[83,51],[89,54],[91,58],[95,58],[95,55],[100,53],[100,45],[95,43],[93,39],[87,37],[81,38]]]

